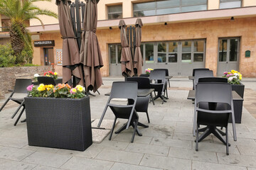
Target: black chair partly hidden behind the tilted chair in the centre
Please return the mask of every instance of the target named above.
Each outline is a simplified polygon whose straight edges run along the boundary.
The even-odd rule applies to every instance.
[[[127,81],[136,81],[138,83],[138,89],[150,89],[150,80],[147,77],[128,77]],[[152,94],[150,94],[151,99],[153,100]],[[154,102],[154,101],[153,101]],[[135,110],[137,112],[146,112],[146,117],[149,120],[149,96],[146,97],[137,97],[137,103]]]

